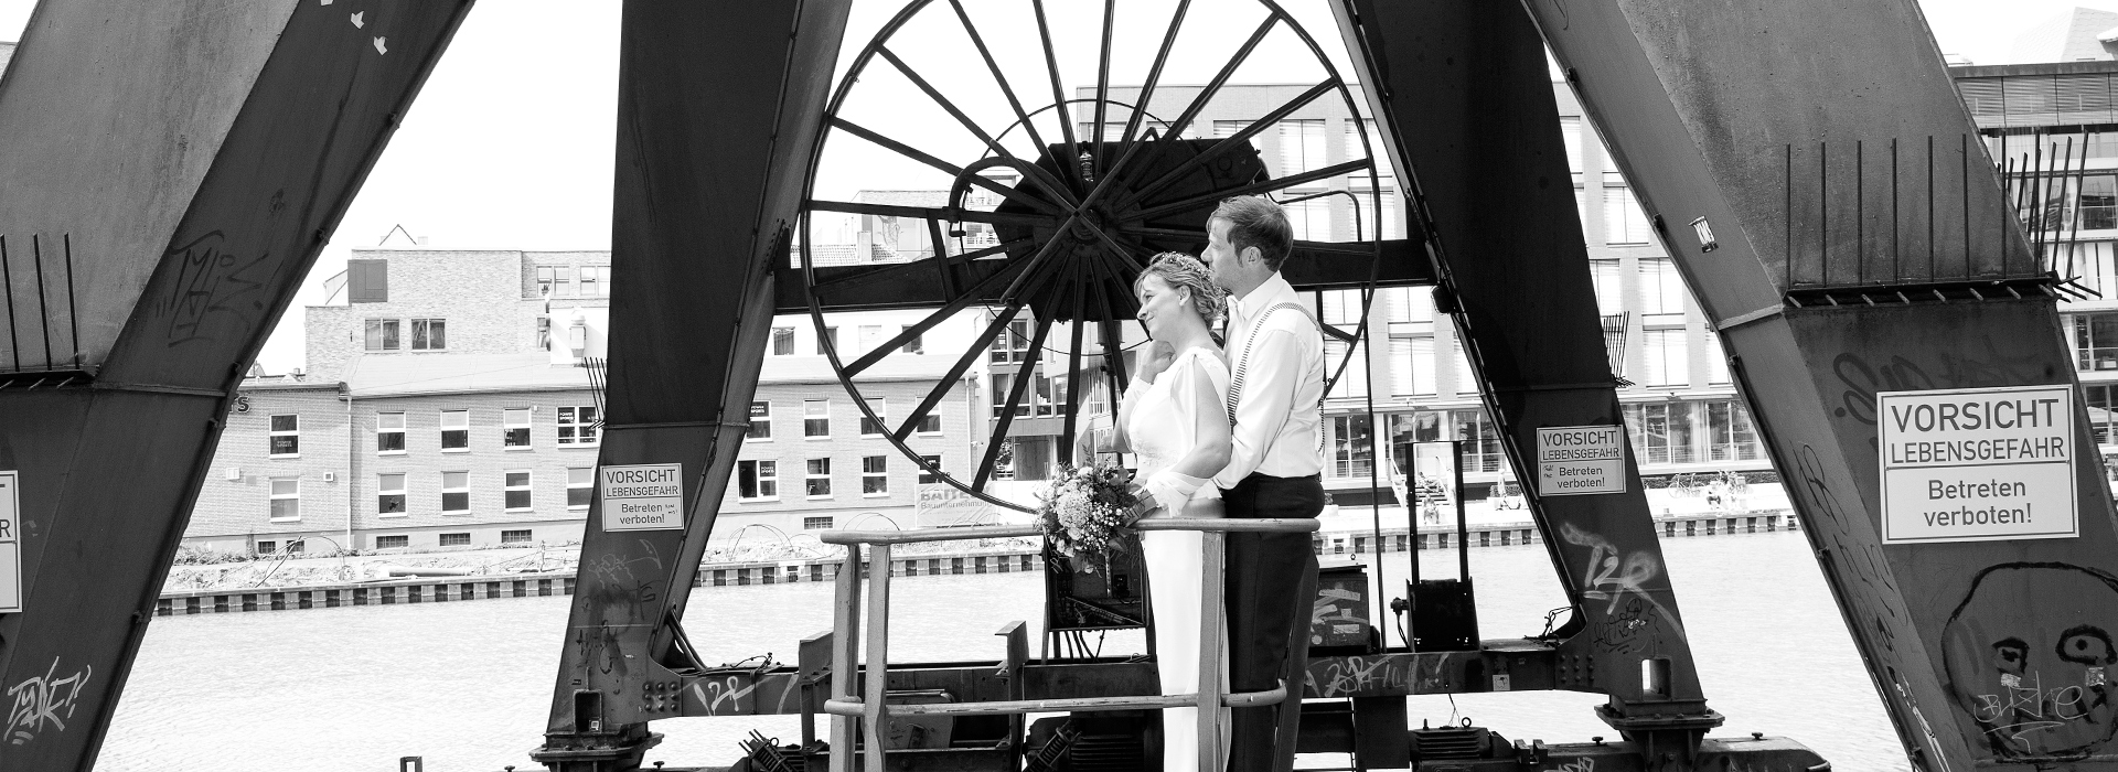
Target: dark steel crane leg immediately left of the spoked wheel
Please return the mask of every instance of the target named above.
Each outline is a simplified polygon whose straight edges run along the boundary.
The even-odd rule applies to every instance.
[[[618,55],[610,387],[599,474],[680,465],[678,529],[589,503],[536,759],[631,770],[697,670],[678,620],[735,470],[849,0],[629,0]]]

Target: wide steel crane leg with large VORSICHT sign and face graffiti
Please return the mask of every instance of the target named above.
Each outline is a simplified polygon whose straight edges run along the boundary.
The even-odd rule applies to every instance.
[[[2118,766],[2118,529],[2086,419],[2054,431],[2078,535],[1883,541],[1879,391],[2078,391],[1919,6],[1525,6],[1720,332],[1913,766]]]

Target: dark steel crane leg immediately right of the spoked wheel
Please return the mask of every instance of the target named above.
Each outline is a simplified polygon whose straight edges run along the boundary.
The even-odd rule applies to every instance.
[[[1341,0],[1368,108],[1430,235],[1451,313],[1531,516],[1574,603],[1572,658],[1603,721],[1650,755],[1690,755],[1705,706],[1654,518],[1627,453],[1625,493],[1540,495],[1538,429],[1622,427],[1544,47],[1512,4]],[[1584,626],[1582,626],[1584,624]],[[1644,662],[1656,677],[1644,677]],[[1688,745],[1688,747],[1686,747]]]

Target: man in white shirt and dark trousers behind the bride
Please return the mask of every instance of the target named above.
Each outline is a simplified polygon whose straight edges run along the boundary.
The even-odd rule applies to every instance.
[[[1228,290],[1228,415],[1233,453],[1214,476],[1231,518],[1313,518],[1324,512],[1324,330],[1279,277],[1294,250],[1288,214],[1262,197],[1226,199],[1207,220],[1205,264]],[[1231,772],[1294,766],[1309,664],[1307,622],[1317,558],[1309,533],[1228,533],[1228,687],[1288,681],[1277,706],[1235,709]]]

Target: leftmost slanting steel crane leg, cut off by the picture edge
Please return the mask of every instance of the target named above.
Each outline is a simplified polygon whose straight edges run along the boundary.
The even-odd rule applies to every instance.
[[[32,235],[70,243],[76,317],[38,321],[78,345],[0,372],[25,584],[25,611],[0,615],[0,690],[32,706],[11,713],[0,770],[95,766],[227,402],[468,8],[72,0],[30,17],[0,80],[0,233],[17,260]],[[68,385],[30,389],[59,362]]]

